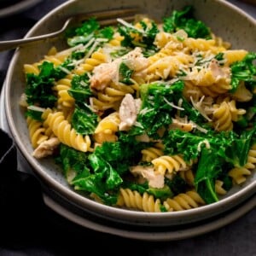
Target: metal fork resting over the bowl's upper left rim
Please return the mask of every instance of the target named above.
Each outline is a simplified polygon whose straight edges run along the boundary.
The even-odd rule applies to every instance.
[[[135,15],[138,14],[137,7],[131,7],[126,9],[110,9],[98,12],[90,12],[85,14],[74,15],[69,17],[61,27],[61,29],[55,32],[49,32],[44,35],[35,36],[32,38],[21,38],[9,41],[0,42],[0,51],[7,49],[15,49],[17,47],[28,46],[37,42],[47,41],[49,38],[55,39],[60,38],[67,31],[68,27],[78,25],[79,22],[89,19],[90,17],[95,17],[96,20],[102,26],[110,26],[117,23],[117,19],[121,18],[125,21],[131,21],[134,19]]]

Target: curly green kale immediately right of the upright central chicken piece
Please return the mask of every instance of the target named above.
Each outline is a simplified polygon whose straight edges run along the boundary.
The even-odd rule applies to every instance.
[[[172,117],[177,113],[178,101],[182,99],[181,116],[187,115],[194,122],[202,121],[201,113],[183,97],[183,81],[173,84],[155,82],[141,86],[143,100],[137,122],[141,127],[133,127],[131,132],[148,134],[149,137],[159,138],[159,129],[166,129],[172,124]]]

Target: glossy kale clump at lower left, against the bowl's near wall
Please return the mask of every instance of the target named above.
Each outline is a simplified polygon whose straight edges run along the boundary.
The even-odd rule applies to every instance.
[[[104,160],[61,144],[60,154],[55,157],[55,161],[62,166],[64,176],[74,189],[84,191],[87,195],[95,193],[108,205],[117,201],[117,192],[110,195],[108,190],[114,190],[121,179]]]

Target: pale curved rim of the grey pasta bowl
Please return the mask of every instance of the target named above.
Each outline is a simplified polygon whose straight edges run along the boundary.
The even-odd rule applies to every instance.
[[[55,15],[56,13],[59,13],[61,9],[66,9],[72,4],[75,4],[79,2],[79,0],[69,0],[65,3],[62,3],[61,5],[57,6],[55,9],[52,9],[49,11],[47,15],[44,15],[44,17],[38,22],[32,26],[32,28],[29,30],[29,32],[26,33],[25,38],[29,38],[33,35],[33,33],[37,32],[37,28],[39,25],[44,24],[47,22],[49,17],[52,15]],[[215,3],[221,3],[227,8],[233,9],[235,12],[239,13],[240,15],[247,17],[247,19],[253,23],[254,26],[256,26],[256,20],[253,19],[250,15],[247,15],[247,13],[238,7],[236,7],[232,3],[224,2],[222,0],[212,0],[212,2]],[[10,132],[12,137],[15,139],[15,143],[20,149],[20,153],[25,157],[25,159],[29,162],[30,166],[32,166],[32,169],[35,172],[35,175],[39,177],[41,182],[46,183],[51,188],[53,188],[57,193],[62,195],[64,198],[67,199],[67,201],[73,201],[74,204],[78,205],[79,207],[83,208],[85,211],[95,212],[96,214],[102,214],[104,212],[106,216],[104,218],[116,218],[116,216],[119,216],[119,221],[122,221],[125,219],[125,221],[128,221],[130,218],[135,218],[137,220],[137,224],[141,224],[142,222],[144,224],[144,221],[148,223],[148,221],[152,222],[151,224],[160,224],[159,221],[157,221],[159,218],[161,220],[165,219],[166,221],[170,221],[172,219],[180,219],[183,218],[184,221],[189,221],[189,218],[196,216],[201,218],[204,218],[204,215],[207,215],[205,218],[209,218],[209,216],[212,214],[216,215],[220,212],[223,212],[225,210],[229,210],[231,207],[234,207],[241,203],[241,201],[244,201],[248,196],[253,195],[256,192],[256,180],[253,180],[252,183],[249,183],[244,188],[241,188],[238,192],[234,193],[233,195],[229,195],[218,202],[212,203],[210,205],[205,205],[202,207],[192,208],[185,211],[180,212],[139,212],[136,210],[130,210],[130,209],[123,209],[118,207],[109,207],[107,205],[102,205],[96,201],[92,201],[89,198],[84,197],[83,195],[79,195],[78,192],[73,191],[70,188],[65,187],[61,183],[57,182],[53,177],[50,177],[49,174],[45,173],[42,169],[39,168],[38,160],[32,159],[32,155],[26,150],[25,146],[21,142],[19,136],[18,136],[18,129],[15,126],[15,122],[12,116],[11,112],[11,105],[13,102],[9,99],[9,91],[11,90],[10,80],[11,75],[14,70],[15,62],[19,59],[19,52],[22,49],[16,49],[15,54],[13,55],[10,64],[9,69],[6,76],[5,81],[5,90],[4,90],[4,105],[5,105],[5,111],[7,116],[7,121],[9,124]],[[86,207],[86,209],[84,208]],[[207,214],[206,214],[207,213]],[[210,215],[209,215],[210,214]],[[145,220],[145,217],[147,217],[147,220]],[[166,223],[165,223],[166,224]]]

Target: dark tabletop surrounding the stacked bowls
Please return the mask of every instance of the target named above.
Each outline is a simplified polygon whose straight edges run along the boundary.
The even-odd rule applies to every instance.
[[[49,10],[64,2],[66,1],[43,0],[23,12],[0,18],[0,40],[22,38],[35,22]],[[236,0],[230,0],[230,2],[245,9],[249,15],[256,18],[255,6]],[[13,53],[13,50],[0,53],[1,86]],[[24,177],[21,179],[24,180]],[[29,179],[26,183],[30,186],[37,185]],[[38,191],[37,188],[36,191]],[[24,189],[22,193],[26,195]],[[0,212],[2,210],[0,208]],[[0,238],[0,255],[86,255],[90,252],[96,255],[104,253],[109,255],[256,256],[255,208],[218,230],[177,241],[138,241],[89,230],[62,218],[41,203],[23,198],[12,210],[10,214],[8,212],[3,215],[4,218],[0,214],[0,236],[2,237]]]

